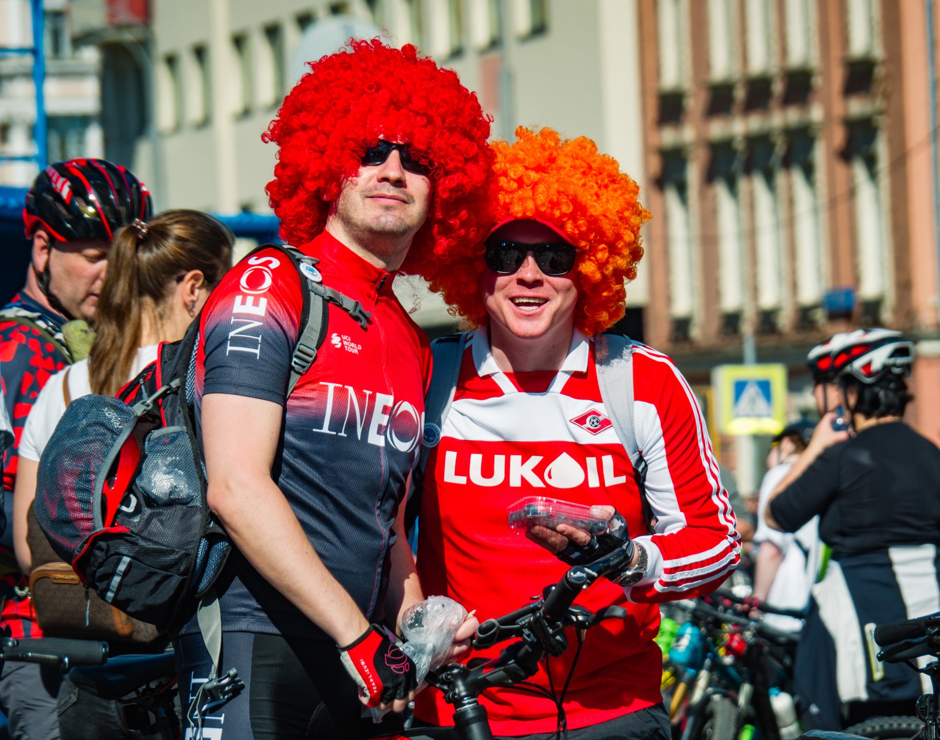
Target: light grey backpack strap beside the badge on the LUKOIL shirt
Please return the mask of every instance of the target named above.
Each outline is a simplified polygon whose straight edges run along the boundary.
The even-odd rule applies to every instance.
[[[634,423],[634,343],[625,334],[604,332],[594,340],[597,382],[614,431],[634,466],[634,478],[643,503],[643,517],[652,532],[652,507],[646,491],[647,462],[636,442]]]

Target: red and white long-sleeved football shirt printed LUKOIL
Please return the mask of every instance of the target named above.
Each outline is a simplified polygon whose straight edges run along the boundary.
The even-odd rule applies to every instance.
[[[643,580],[625,591],[601,579],[575,602],[591,611],[617,604],[628,616],[587,631],[565,701],[570,729],[662,701],[654,603],[709,592],[738,562],[734,514],[691,388],[648,347],[635,344],[633,362],[636,441],[649,464],[655,534],[648,533],[630,458],[603,403],[593,342],[578,332],[557,372],[503,372],[485,329],[468,340],[421,494],[421,584],[476,608],[480,622],[525,606],[568,567],[509,530],[507,509],[525,496],[610,504],[643,543],[649,554]],[[572,668],[576,639],[568,637],[572,649],[547,663],[556,692]],[[473,656],[493,656],[501,647]],[[533,681],[549,688],[546,664]],[[494,734],[555,731],[555,704],[525,688],[488,690],[480,701]],[[415,715],[453,723],[453,707],[432,688],[415,699]]]

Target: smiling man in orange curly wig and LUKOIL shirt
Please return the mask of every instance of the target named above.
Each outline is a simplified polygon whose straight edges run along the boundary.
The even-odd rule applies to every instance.
[[[619,568],[575,603],[620,616],[587,630],[583,650],[569,630],[572,649],[540,663],[538,688],[490,688],[480,704],[495,735],[567,726],[576,740],[666,740],[657,604],[714,590],[740,538],[688,383],[664,354],[604,333],[643,256],[650,214],[636,182],[587,138],[516,135],[493,145],[488,237],[429,274],[476,328],[434,347],[435,374],[459,370],[446,416],[427,419],[434,447],[415,473],[418,574],[483,621],[525,606],[570,564],[617,551]],[[526,496],[603,507],[609,531],[539,525],[524,509],[520,537],[507,511]],[[453,710],[436,689],[415,700],[432,725],[453,724]]]

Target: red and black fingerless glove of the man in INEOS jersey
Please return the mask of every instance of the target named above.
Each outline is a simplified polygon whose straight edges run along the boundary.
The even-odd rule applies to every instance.
[[[339,648],[343,668],[368,698],[367,706],[406,700],[417,688],[415,664],[395,644],[395,636],[378,624],[352,645]]]

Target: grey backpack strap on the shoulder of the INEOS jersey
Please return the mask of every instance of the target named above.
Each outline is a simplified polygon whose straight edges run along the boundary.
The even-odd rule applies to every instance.
[[[305,255],[290,244],[261,244],[246,257],[251,257],[262,249],[277,249],[287,255],[300,276],[304,306],[301,310],[300,333],[290,358],[290,380],[288,381],[288,395],[290,396],[297,381],[307,370],[310,370],[310,366],[317,358],[317,351],[326,339],[329,321],[328,304],[336,304],[342,308],[364,329],[368,326],[371,314],[358,301],[353,301],[349,296],[322,284],[320,271],[316,267],[320,261],[317,258]]]

